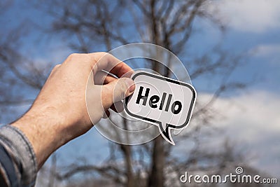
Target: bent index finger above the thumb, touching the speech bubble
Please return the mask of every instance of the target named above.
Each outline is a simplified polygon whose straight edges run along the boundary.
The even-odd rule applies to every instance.
[[[114,57],[110,53],[95,53],[99,59],[95,64],[97,66],[97,71],[106,70],[111,74],[118,76],[118,78],[124,76],[130,78],[133,74],[133,69],[125,64],[125,62]]]

